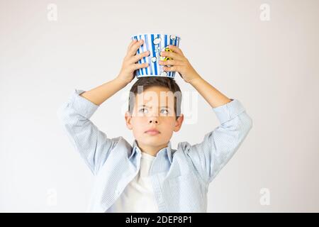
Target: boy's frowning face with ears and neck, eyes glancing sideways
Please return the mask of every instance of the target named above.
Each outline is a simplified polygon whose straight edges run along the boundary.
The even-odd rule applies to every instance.
[[[152,154],[167,146],[173,131],[179,131],[183,120],[182,114],[176,119],[174,94],[166,87],[149,87],[136,94],[132,114],[125,113],[126,126],[133,130],[138,146],[143,152]],[[158,133],[147,132],[150,129]]]

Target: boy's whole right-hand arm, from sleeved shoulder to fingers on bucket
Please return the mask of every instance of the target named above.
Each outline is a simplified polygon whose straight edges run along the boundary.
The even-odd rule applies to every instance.
[[[201,143],[181,144],[197,170],[207,182],[211,182],[240,147],[252,128],[252,119],[246,114],[240,101],[228,99],[201,78],[181,49],[174,45],[169,45],[169,48],[174,52],[161,52],[161,55],[173,60],[161,61],[159,65],[171,65],[164,67],[164,70],[179,72],[184,81],[191,84],[208,101],[220,121],[220,126],[207,133]]]

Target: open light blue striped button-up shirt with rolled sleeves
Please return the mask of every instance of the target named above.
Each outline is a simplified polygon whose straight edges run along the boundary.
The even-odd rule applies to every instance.
[[[122,136],[108,138],[89,118],[99,106],[75,89],[57,111],[74,148],[94,175],[89,211],[112,212],[112,205],[138,174],[141,150]],[[206,212],[209,183],[233,157],[252,119],[237,99],[213,108],[220,126],[204,135],[201,143],[180,142],[177,150],[159,150],[150,170],[150,180],[159,212]]]

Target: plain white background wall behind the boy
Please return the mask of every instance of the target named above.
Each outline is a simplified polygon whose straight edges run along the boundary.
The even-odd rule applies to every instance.
[[[264,3],[270,21],[260,18]],[[49,4],[57,6],[57,21],[47,18]],[[74,89],[117,76],[131,34],[160,32],[180,35],[201,77],[239,99],[253,120],[210,185],[208,212],[318,212],[318,21],[315,0],[1,0],[0,211],[86,211],[93,178],[57,109]],[[195,92],[176,79],[182,92]],[[121,109],[132,84],[91,118],[108,137],[130,143]],[[201,96],[192,111],[196,123],[174,133],[172,148],[201,142],[218,126]],[[269,205],[260,203],[263,188]]]

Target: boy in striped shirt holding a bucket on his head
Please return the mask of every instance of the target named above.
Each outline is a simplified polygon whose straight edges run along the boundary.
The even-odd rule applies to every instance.
[[[177,71],[211,105],[220,126],[207,133],[201,143],[178,144],[171,148],[172,133],[179,131],[184,116],[180,92],[174,79],[140,78],[130,90],[128,129],[135,140],[131,146],[123,137],[108,138],[89,120],[106,99],[123,89],[134,78],[138,64],[149,52],[136,55],[142,40],[133,40],[116,79],[88,92],[75,90],[58,116],[74,147],[95,175],[89,211],[93,212],[206,212],[208,184],[234,155],[252,128],[252,119],[240,101],[228,99],[208,84],[191,66],[181,49],[161,52],[172,60],[159,62],[165,71]],[[142,92],[138,86],[143,86]],[[159,94],[165,92],[162,98]],[[145,96],[155,99],[145,99]],[[160,96],[160,98],[158,98]],[[167,106],[167,100],[174,106]]]

